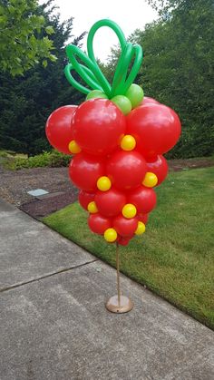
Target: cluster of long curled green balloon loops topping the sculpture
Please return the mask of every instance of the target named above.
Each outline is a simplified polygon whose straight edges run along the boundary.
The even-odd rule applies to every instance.
[[[110,27],[119,39],[122,48],[122,54],[118,61],[116,71],[111,84],[107,81],[103,75],[98,63],[96,62],[93,53],[93,37],[97,30],[102,26]],[[83,81],[93,90],[100,90],[105,93],[110,99],[119,94],[127,92],[131,83],[134,81],[137,73],[140,70],[142,62],[142,50],[140,45],[132,45],[127,43],[122,29],[115,24],[112,20],[103,19],[92,25],[92,28],[88,34],[87,39],[88,55],[84,54],[82,50],[71,44],[66,47],[66,54],[69,58],[68,63],[64,69],[65,76],[69,83],[73,85],[77,90],[82,93],[90,93],[90,89],[84,87],[81,83],[78,83],[71,73],[74,70],[78,73]],[[76,56],[84,63],[79,63]],[[134,62],[131,67],[131,72],[128,74],[131,60],[134,57]]]

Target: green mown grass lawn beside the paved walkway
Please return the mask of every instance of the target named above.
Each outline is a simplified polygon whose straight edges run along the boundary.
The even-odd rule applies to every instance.
[[[121,247],[124,274],[214,327],[214,168],[171,172],[141,237]],[[115,245],[92,234],[74,203],[44,223],[115,266]]]

